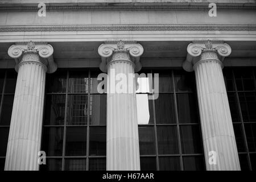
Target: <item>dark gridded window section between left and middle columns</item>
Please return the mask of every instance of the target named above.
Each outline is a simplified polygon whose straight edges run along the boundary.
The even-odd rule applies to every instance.
[[[106,169],[106,94],[97,92],[98,71],[47,75],[40,170]]]

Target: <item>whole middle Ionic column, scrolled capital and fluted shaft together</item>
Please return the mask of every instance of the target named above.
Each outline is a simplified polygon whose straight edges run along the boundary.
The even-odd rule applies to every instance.
[[[140,170],[134,72],[141,69],[140,44],[101,44],[100,69],[108,72],[107,170]]]

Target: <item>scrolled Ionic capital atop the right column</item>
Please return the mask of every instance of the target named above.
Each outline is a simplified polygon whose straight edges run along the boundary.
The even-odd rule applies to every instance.
[[[183,62],[183,69],[193,71],[193,65],[199,61],[216,60],[222,62],[224,57],[229,56],[231,48],[221,41],[195,41],[188,44],[187,59]]]

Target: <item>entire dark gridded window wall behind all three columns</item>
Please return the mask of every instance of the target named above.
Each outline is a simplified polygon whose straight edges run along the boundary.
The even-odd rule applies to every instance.
[[[224,69],[242,170],[256,169],[255,71]],[[160,73],[160,93],[158,100],[147,100],[147,121],[139,123],[141,169],[205,169],[194,73],[149,72]],[[106,94],[97,93],[98,73],[58,69],[47,74],[42,136],[47,165],[41,170],[106,169]],[[5,166],[16,76],[13,69],[0,71],[0,170]]]

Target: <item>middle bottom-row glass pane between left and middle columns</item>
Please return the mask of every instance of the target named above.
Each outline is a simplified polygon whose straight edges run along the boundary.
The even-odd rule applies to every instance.
[[[65,159],[65,171],[85,171],[86,159]]]

